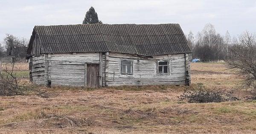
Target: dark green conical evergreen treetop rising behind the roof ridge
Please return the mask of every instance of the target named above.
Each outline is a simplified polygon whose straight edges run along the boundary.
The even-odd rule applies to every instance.
[[[102,21],[99,20],[98,14],[96,13],[95,9],[93,7],[90,7],[90,9],[85,14],[83,24],[93,23],[102,23]]]

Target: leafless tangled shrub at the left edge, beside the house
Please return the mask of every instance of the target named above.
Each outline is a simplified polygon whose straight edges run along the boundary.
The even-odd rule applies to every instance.
[[[11,66],[11,67],[9,67]],[[5,64],[0,71],[0,96],[29,95],[35,93],[39,96],[46,96],[46,91],[29,88],[22,83],[14,72],[15,63]],[[11,68],[11,69],[10,69]]]

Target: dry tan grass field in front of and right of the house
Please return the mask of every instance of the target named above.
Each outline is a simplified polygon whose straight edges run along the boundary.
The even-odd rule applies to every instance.
[[[187,103],[187,88],[231,90],[241,79],[222,63],[193,63],[192,86],[44,88],[52,95],[0,97],[0,133],[256,133],[256,101]]]

